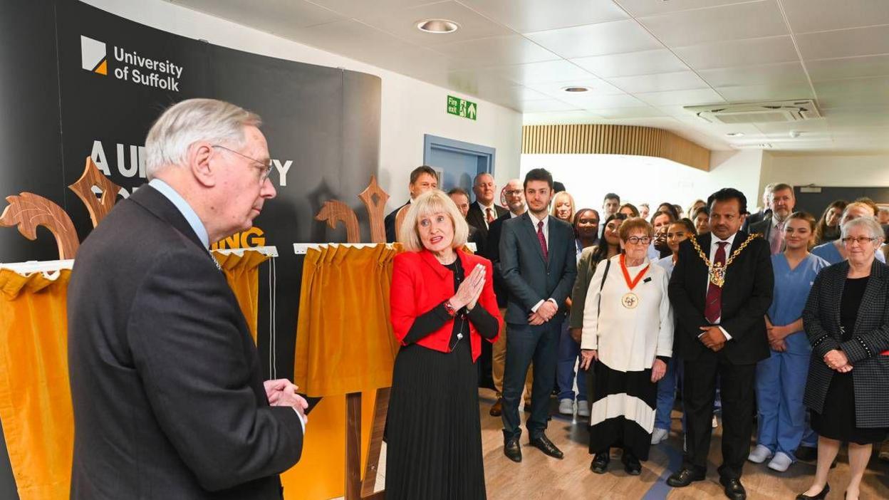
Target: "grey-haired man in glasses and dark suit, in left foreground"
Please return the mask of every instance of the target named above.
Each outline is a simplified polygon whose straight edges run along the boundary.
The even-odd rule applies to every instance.
[[[71,498],[281,498],[305,400],[263,382],[208,246],[275,197],[260,118],[182,101],[148,132],[150,182],[80,246],[68,285]]]

